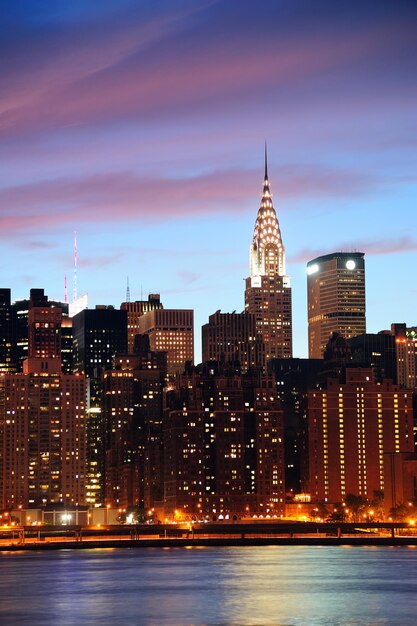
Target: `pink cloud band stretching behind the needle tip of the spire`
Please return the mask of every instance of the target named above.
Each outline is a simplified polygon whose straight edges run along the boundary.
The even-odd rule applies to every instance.
[[[185,216],[234,214],[251,208],[259,172],[222,171],[163,179],[131,173],[46,180],[0,189],[0,236],[48,231],[65,224],[155,223]],[[385,184],[377,177],[350,170],[313,166],[282,168],[276,183],[280,198],[356,197]],[[259,192],[261,181],[259,180]]]

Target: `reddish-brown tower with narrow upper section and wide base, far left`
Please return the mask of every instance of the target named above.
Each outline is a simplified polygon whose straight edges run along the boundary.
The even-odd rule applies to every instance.
[[[61,373],[60,309],[32,290],[24,373],[0,377],[2,507],[85,504],[85,380]]]

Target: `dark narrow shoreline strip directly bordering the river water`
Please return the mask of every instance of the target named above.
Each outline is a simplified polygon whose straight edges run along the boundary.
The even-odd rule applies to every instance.
[[[204,548],[259,546],[417,546],[417,537],[195,537],[159,539],[83,539],[66,541],[27,541],[0,546],[0,552],[93,550],[102,548]]]

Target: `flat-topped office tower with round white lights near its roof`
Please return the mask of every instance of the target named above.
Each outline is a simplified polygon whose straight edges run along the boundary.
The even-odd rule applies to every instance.
[[[333,332],[344,339],[363,335],[365,261],[362,252],[334,252],[307,263],[308,354],[323,357]]]

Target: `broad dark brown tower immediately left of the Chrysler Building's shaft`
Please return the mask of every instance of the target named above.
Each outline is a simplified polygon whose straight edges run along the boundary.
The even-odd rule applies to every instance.
[[[264,344],[250,313],[210,315],[202,327],[203,363],[219,361],[235,364],[242,373],[264,362]]]

